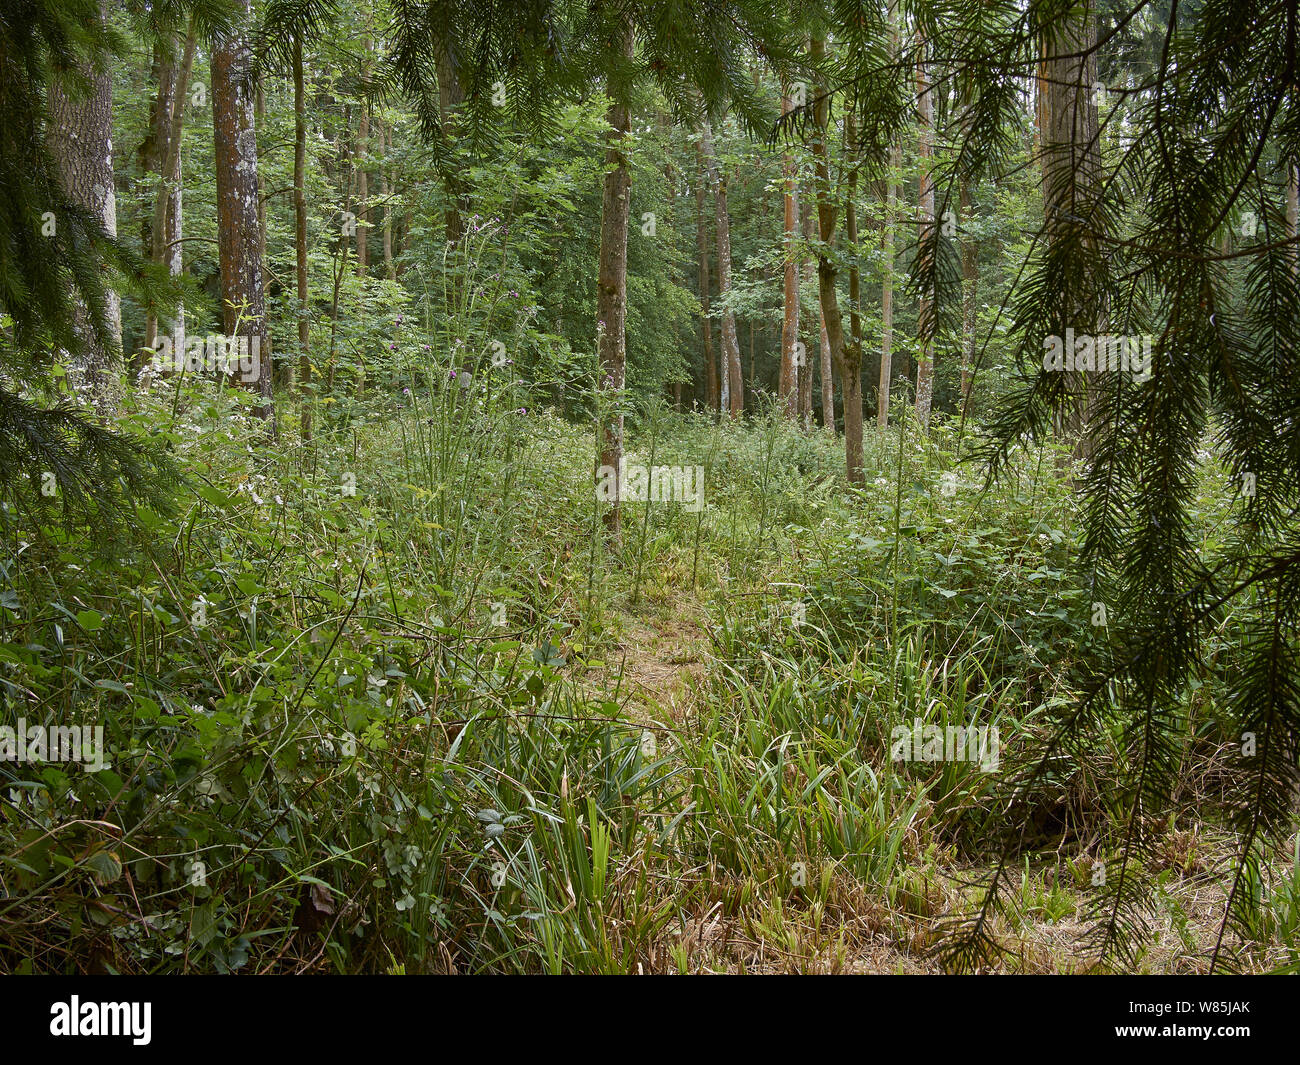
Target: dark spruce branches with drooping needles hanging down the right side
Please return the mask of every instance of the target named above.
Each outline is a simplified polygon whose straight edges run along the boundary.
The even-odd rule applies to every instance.
[[[1295,5],[916,0],[904,7],[904,40],[922,38],[926,52],[893,62],[881,55],[884,5],[828,8],[845,33],[838,87],[863,105],[868,160],[883,161],[906,121],[909,66],[920,59],[932,82],[952,79],[961,121],[936,170],[936,212],[956,203],[958,181],[1014,165],[1043,59],[1095,53],[1110,83],[1102,170],[1062,168],[1070,183],[1053,200],[1067,208],[1045,218],[1006,304],[1018,381],[975,449],[993,479],[1024,443],[1063,430],[1086,438],[1080,557],[1109,607],[1109,650],[1079,664],[1084,697],[1057,711],[1050,739],[1004,785],[1008,809],[1027,815],[1035,789],[1071,774],[1108,778],[1121,828],[1102,844],[1089,945],[1098,966],[1132,965],[1150,919],[1153,826],[1184,753],[1180,707],[1191,683],[1216,676],[1243,752],[1227,800],[1238,863],[1212,958],[1230,967],[1227,934],[1248,938],[1261,854],[1292,827],[1300,791],[1300,248],[1284,218],[1287,165],[1300,159]],[[1095,44],[1080,49],[1089,18]],[[913,283],[950,313],[954,256],[939,226],[920,241]],[[1044,338],[1067,328],[1150,335],[1149,377],[1045,369]],[[1228,545],[1213,555],[1195,514],[1206,454],[1230,471],[1234,495]],[[1206,638],[1228,614],[1235,653],[1212,661]],[[1096,765],[1093,740],[1105,735],[1121,737],[1118,769]],[[949,928],[952,967],[997,960],[989,917],[1026,828],[1010,819],[980,905]]]

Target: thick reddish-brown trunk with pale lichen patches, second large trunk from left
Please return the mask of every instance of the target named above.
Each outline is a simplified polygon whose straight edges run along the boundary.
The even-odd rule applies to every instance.
[[[263,398],[259,416],[272,421],[270,352],[257,224],[257,134],[250,82],[252,49],[250,0],[240,0],[243,25],[218,36],[212,48],[212,126],[217,172],[217,259],[221,320],[228,337],[242,338],[251,371],[240,375]],[[256,355],[255,355],[256,352]],[[256,380],[247,380],[255,377]]]

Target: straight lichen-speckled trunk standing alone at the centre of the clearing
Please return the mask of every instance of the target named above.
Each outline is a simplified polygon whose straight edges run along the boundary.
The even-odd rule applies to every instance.
[[[623,55],[632,57],[634,38],[632,22],[625,20]],[[614,538],[620,533],[621,460],[623,460],[623,382],[627,371],[628,316],[628,218],[630,211],[632,172],[628,166],[625,140],[632,130],[632,114],[610,86],[608,134],[604,150],[604,192],[601,204],[601,261],[597,276],[597,341],[602,385],[612,393],[618,410],[599,427],[601,466],[612,469],[615,486],[612,506],[604,514],[604,525]]]

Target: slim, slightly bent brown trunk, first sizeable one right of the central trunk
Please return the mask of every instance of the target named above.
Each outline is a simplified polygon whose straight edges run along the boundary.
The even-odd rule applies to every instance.
[[[814,36],[809,48],[814,64],[826,56],[826,42]],[[831,257],[835,243],[836,204],[831,187],[831,164],[826,135],[829,124],[829,94],[823,86],[814,88],[812,105],[812,159],[816,186],[818,244],[816,280],[826,334],[831,343],[831,358],[840,372],[844,394],[844,466],[850,484],[862,484],[862,348],[845,341],[844,317],[836,291],[837,268]]]

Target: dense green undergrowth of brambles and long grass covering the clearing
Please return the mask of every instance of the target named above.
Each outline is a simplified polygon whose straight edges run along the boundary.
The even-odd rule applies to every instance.
[[[651,403],[629,462],[698,464],[702,506],[625,502],[610,541],[590,424],[514,388],[432,372],[266,449],[244,394],[164,378],[127,417],[203,471],[174,512],[96,554],[6,506],[6,715],[105,736],[4,766],[0,967],[936,971],[1014,810],[1000,967],[1089,967],[1122,796],[1013,787],[1106,640],[1067,463],[985,485],[900,406],[846,494],[829,437]],[[1141,971],[1202,970],[1222,918],[1219,694],[1184,707]],[[928,759],[953,726],[992,757]],[[1264,871],[1251,970],[1300,948],[1294,844]]]

